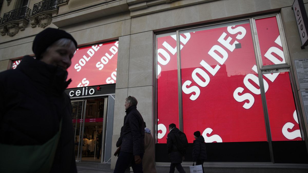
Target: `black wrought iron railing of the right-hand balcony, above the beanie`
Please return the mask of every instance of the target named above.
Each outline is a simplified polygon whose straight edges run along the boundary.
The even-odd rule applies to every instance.
[[[33,5],[32,15],[38,14],[42,11],[53,10],[59,7],[58,4],[66,2],[67,0],[43,0]]]

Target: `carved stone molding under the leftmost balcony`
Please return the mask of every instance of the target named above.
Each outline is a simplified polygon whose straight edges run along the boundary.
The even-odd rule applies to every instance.
[[[26,19],[6,22],[0,25],[0,33],[2,36],[8,35],[10,37],[13,37],[19,32],[19,30],[25,30],[28,23],[29,21],[27,21]]]

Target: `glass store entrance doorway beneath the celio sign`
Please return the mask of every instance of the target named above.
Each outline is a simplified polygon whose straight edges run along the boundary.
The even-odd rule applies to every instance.
[[[107,97],[103,97],[71,102],[75,159],[78,162],[103,162],[107,100]]]

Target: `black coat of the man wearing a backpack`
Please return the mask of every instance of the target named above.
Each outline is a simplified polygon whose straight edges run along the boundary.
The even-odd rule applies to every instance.
[[[176,134],[179,131],[178,128],[174,127],[167,135],[167,150],[171,163],[182,163],[183,155],[176,147]]]

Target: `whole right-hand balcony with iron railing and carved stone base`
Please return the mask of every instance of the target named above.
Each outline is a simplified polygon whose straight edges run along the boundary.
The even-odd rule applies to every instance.
[[[45,28],[51,24],[52,17],[59,12],[58,5],[67,2],[67,0],[43,0],[34,4],[32,15],[29,17],[31,21],[31,27]]]

